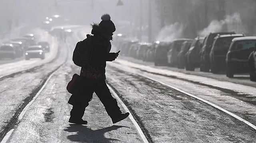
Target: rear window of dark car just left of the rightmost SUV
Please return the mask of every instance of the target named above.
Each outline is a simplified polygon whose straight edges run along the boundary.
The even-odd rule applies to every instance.
[[[235,37],[241,36],[222,37],[216,39],[216,41],[214,42],[214,51],[228,50],[230,43],[232,42],[232,39],[234,39]]]

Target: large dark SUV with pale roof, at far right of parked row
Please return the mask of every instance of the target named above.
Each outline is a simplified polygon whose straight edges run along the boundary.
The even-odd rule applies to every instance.
[[[226,55],[226,76],[248,73],[248,57],[256,47],[256,36],[238,37],[232,40]]]

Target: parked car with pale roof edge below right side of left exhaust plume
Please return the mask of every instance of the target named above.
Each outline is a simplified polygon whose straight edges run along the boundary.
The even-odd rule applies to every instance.
[[[181,50],[183,42],[193,41],[193,39],[176,39],[172,41],[172,47],[167,52],[168,65],[176,66],[178,63],[178,53]]]

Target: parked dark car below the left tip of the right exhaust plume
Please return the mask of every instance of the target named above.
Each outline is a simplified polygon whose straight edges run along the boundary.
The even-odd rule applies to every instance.
[[[194,71],[195,68],[200,67],[199,53],[202,48],[203,37],[196,37],[192,42],[188,52],[186,53],[186,71]]]

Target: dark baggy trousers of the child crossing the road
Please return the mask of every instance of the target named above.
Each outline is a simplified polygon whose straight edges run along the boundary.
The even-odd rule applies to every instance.
[[[110,118],[114,119],[116,116],[122,113],[118,107],[116,99],[111,95],[104,79],[90,80],[84,78],[80,81],[80,85],[78,86],[77,90],[68,100],[68,103],[73,106],[72,110],[70,111],[70,117],[81,119],[84,116],[85,108],[92,100],[92,95],[94,92],[104,105]]]

